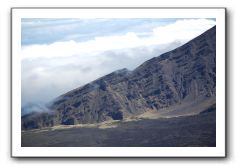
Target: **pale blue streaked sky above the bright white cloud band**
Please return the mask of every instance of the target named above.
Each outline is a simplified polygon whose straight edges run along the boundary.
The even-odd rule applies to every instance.
[[[151,33],[177,19],[22,19],[22,45],[86,41],[96,36]]]

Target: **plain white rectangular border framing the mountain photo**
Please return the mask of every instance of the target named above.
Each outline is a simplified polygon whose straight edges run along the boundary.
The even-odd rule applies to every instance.
[[[22,18],[215,18],[216,147],[21,147]],[[226,157],[225,8],[12,8],[12,157]]]

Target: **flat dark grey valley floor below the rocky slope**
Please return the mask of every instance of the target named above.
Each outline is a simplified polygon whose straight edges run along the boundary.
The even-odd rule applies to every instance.
[[[109,126],[108,126],[109,125]],[[216,113],[22,132],[22,147],[216,146]]]

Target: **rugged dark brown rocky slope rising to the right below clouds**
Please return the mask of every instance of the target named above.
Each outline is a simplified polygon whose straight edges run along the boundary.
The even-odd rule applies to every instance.
[[[95,123],[216,95],[216,27],[133,71],[121,69],[74,89],[22,117],[22,129]]]

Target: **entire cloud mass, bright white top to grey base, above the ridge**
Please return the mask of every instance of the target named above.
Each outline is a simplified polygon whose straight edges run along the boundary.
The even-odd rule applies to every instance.
[[[187,19],[157,27],[143,37],[127,32],[86,42],[24,46],[21,51],[22,103],[48,102],[117,69],[134,69],[214,25],[213,20]]]

